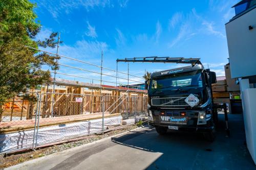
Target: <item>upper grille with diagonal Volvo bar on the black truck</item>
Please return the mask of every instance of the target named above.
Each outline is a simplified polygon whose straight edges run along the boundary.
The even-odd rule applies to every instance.
[[[185,102],[186,98],[187,97],[151,99],[151,104],[152,106],[189,106]]]

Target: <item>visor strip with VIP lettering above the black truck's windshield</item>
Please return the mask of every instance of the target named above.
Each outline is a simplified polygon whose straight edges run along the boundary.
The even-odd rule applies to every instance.
[[[166,75],[173,75],[173,74],[178,74],[181,72],[188,72],[188,71],[194,71],[194,70],[200,70],[204,69],[202,64],[196,64],[196,65],[190,65],[190,66],[185,66],[185,67],[179,67],[179,68],[174,68],[174,69],[167,69],[163,71],[158,71],[158,72],[153,72],[151,77],[160,77],[160,76],[166,76]]]

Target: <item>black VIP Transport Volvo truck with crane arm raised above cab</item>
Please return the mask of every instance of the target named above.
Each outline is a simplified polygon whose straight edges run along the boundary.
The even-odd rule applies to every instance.
[[[148,121],[163,135],[167,130],[198,131],[213,141],[218,113],[214,109],[211,83],[215,72],[204,69],[199,59],[144,57],[125,62],[189,63],[190,66],[154,72],[145,81],[148,90]]]

